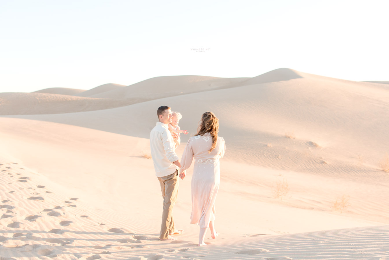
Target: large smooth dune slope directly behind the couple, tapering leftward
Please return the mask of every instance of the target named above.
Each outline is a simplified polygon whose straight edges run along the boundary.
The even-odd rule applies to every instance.
[[[180,124],[190,133],[204,111],[214,111],[231,154],[241,162],[364,178],[360,173],[366,170],[381,174],[378,168],[389,142],[389,91],[370,84],[305,74],[108,110],[21,118],[148,138],[156,120],[154,110],[161,104],[180,111],[184,115]],[[182,136],[183,141],[187,138]]]

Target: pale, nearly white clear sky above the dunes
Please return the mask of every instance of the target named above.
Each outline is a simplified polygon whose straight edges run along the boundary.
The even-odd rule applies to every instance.
[[[0,92],[284,67],[389,81],[388,10],[387,0],[0,0]]]

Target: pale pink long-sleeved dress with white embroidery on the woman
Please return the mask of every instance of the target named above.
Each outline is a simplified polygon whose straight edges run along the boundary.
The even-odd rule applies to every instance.
[[[189,168],[195,159],[192,176],[192,214],[191,223],[208,228],[209,221],[215,220],[215,200],[220,184],[219,159],[224,156],[226,144],[218,136],[216,147],[210,153],[212,136],[192,136],[182,154],[181,167]]]

